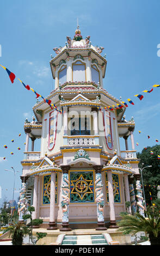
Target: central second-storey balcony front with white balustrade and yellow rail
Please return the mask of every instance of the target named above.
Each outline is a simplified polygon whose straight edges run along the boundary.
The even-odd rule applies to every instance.
[[[99,136],[64,136],[69,146],[94,146],[99,145]]]

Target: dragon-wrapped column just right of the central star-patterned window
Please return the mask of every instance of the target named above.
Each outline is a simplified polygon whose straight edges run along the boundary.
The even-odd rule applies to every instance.
[[[96,191],[96,203],[97,203],[97,225],[98,227],[96,230],[107,230],[104,223],[104,212],[103,212],[103,206],[104,206],[104,199],[103,199],[103,193],[102,193],[102,175],[101,170],[103,168],[102,165],[95,165],[93,167],[95,169],[96,173],[96,180],[95,180],[95,191]]]

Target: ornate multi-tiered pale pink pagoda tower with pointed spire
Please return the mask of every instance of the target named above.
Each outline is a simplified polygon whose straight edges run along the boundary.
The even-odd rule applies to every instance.
[[[90,36],[83,39],[77,27],[73,39],[67,36],[65,46],[53,50],[55,89],[33,106],[36,120],[24,123],[20,196],[35,207],[33,218],[42,218],[47,229],[118,228],[116,221],[126,211],[126,202],[131,203],[128,212],[134,214],[137,206],[144,211],[134,120],[125,120],[125,102],[103,88],[107,68],[103,47],[91,45]],[[41,147],[34,151],[37,139]],[[24,201],[19,204],[21,217]]]

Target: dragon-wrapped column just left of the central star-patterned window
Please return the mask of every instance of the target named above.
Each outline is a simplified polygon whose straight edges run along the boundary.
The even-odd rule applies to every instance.
[[[61,207],[62,207],[62,227],[59,229],[60,231],[71,231],[72,229],[69,227],[69,194],[70,194],[70,187],[69,187],[69,165],[62,165],[60,168],[63,171],[62,174],[62,200],[61,200]]]

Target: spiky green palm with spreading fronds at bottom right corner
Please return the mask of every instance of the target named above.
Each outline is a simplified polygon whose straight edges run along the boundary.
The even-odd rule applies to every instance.
[[[160,216],[157,209],[151,206],[147,211],[147,218],[138,212],[133,216],[121,212],[122,220],[118,223],[124,234],[135,235],[138,231],[145,231],[149,235],[151,245],[160,245]]]

